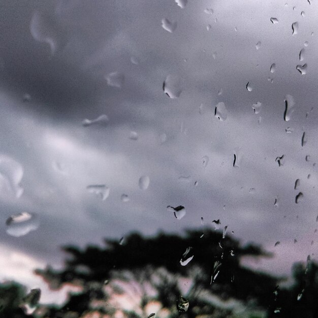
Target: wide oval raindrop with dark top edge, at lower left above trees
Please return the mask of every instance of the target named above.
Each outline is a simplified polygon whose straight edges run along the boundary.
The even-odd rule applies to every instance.
[[[38,229],[40,221],[35,213],[21,212],[11,215],[7,221],[6,232],[15,237],[23,236]]]

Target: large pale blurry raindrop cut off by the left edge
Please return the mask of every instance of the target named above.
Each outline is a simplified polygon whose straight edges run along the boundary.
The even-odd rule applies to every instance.
[[[16,198],[20,198],[23,188],[20,182],[23,177],[22,166],[6,155],[0,155],[0,190],[7,189]]]

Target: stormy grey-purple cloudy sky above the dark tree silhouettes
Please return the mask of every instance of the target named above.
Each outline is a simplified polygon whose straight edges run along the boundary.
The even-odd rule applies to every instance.
[[[62,245],[213,219],[274,253],[246,266],[316,259],[318,4],[178,3],[1,2],[0,279],[44,286],[31,271],[61,266]],[[38,226],[9,235],[22,212]]]

